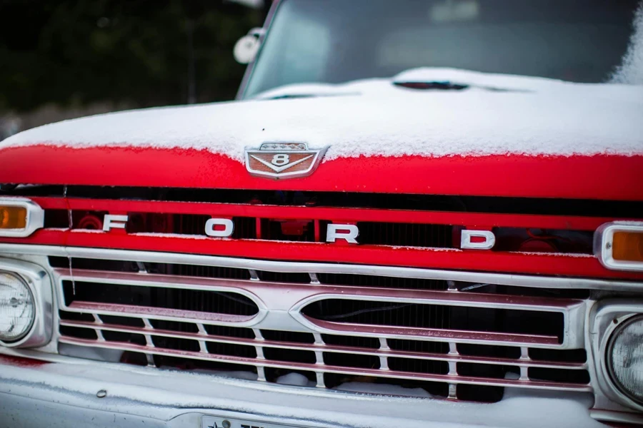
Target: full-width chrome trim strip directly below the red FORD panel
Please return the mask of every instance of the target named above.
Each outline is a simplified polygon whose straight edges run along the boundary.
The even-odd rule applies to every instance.
[[[272,260],[226,258],[214,255],[155,253],[151,251],[109,250],[101,248],[61,247],[0,243],[0,253],[26,255],[56,255],[61,257],[96,258],[101,260],[132,260],[149,263],[178,263],[186,265],[236,267],[239,269],[267,270],[269,272],[347,273],[379,275],[427,280],[452,280],[514,287],[570,288],[609,291],[643,290],[641,281],[596,280],[590,278],[540,277],[489,272],[462,272],[457,270],[419,269],[378,265],[342,265],[332,263],[295,263]]]

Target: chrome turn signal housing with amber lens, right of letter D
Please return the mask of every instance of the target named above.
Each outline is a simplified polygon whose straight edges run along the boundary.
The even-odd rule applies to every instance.
[[[643,271],[643,222],[614,222],[594,234],[594,254],[612,270]]]

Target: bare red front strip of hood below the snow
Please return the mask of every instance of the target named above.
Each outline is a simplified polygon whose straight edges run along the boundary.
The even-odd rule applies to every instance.
[[[7,147],[0,165],[0,183],[643,200],[640,155],[338,158],[285,180],[254,178],[227,156],[179,148]]]

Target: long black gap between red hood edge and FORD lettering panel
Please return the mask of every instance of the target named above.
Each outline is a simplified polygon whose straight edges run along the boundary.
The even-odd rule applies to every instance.
[[[63,186],[21,186],[11,195],[62,196]],[[394,193],[301,192],[122,186],[66,186],[68,198],[139,199],[212,203],[259,203],[269,205],[385,208],[479,213],[587,215],[592,217],[641,218],[639,201],[502,198],[497,196],[412,195]]]

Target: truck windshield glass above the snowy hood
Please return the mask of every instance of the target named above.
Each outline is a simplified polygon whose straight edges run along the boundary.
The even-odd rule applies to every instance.
[[[606,81],[624,56],[638,0],[282,0],[246,86],[464,68]]]

